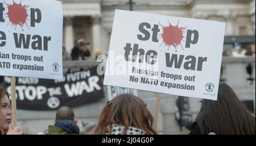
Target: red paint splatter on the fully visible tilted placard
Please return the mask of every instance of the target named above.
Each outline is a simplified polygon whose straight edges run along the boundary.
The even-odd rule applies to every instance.
[[[163,34],[161,34],[160,36],[162,36],[163,38],[164,47],[167,45],[169,49],[171,46],[174,46],[175,52],[177,52],[177,47],[179,45],[183,49],[181,45],[181,40],[184,41],[183,39],[185,38],[183,36],[183,33],[185,32],[184,30],[186,27],[179,27],[178,24],[179,24],[179,20],[176,26],[172,26],[170,22],[169,22],[169,26],[162,26],[162,24],[160,24],[160,26],[162,26],[163,28]]]

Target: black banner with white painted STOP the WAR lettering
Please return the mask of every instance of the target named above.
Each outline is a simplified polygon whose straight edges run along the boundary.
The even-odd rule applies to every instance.
[[[65,74],[63,80],[16,77],[17,109],[55,110],[94,102],[104,97],[102,81],[97,67]],[[4,77],[4,82],[10,94],[11,77]]]

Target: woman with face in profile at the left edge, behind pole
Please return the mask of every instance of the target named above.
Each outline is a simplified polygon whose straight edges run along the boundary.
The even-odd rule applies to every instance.
[[[18,126],[11,127],[11,103],[3,86],[0,86],[0,105],[0,135],[22,134]]]

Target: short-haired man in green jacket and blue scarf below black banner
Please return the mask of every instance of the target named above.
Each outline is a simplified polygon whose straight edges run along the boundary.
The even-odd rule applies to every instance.
[[[75,119],[73,110],[67,106],[60,107],[56,112],[54,126],[49,126],[46,134],[87,134],[80,120]]]

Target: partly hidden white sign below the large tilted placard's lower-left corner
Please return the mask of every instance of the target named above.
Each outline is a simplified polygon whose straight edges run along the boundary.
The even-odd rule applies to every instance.
[[[107,86],[108,87],[108,95],[109,101],[111,101],[114,97],[119,94],[133,94],[138,96],[138,90],[130,89],[126,87],[117,87],[117,86]]]

